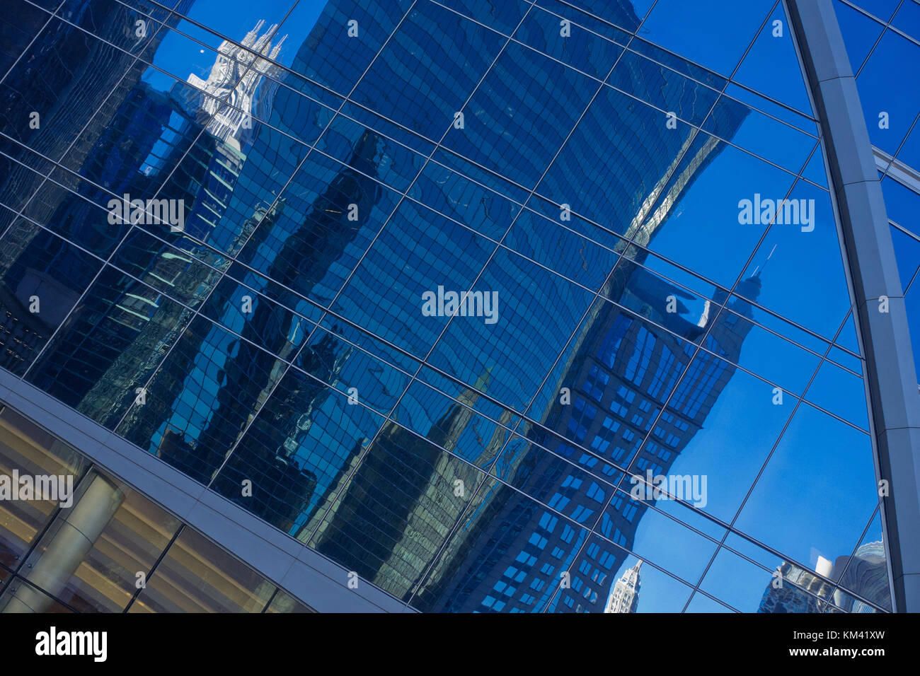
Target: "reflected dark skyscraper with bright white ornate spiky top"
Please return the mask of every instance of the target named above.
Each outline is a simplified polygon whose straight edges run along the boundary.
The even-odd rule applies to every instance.
[[[262,52],[270,50],[267,36],[255,40],[250,33],[247,40]],[[233,65],[230,60],[239,59],[247,64],[253,61],[250,52],[230,49],[226,47],[228,44],[222,45],[221,56],[212,69],[212,73],[224,74],[220,79],[224,84],[228,78],[236,83],[246,67],[236,62]],[[277,55],[277,46],[271,53]],[[244,109],[247,115],[253,106],[253,93],[266,70],[259,68],[258,74],[245,79],[245,85],[238,82],[233,92],[237,102],[247,106]],[[190,81],[193,78],[190,76]],[[165,178],[160,170],[174,166],[185,156],[164,192],[184,202],[188,210],[186,231],[206,238],[213,222],[223,214],[246,160],[237,136],[248,138],[253,128],[253,124],[241,122],[229,129],[224,123],[219,130],[223,133],[220,138],[208,132],[201,133],[202,124],[213,122],[216,119],[213,114],[217,112],[213,107],[214,99],[206,97],[202,91],[212,96],[229,93],[215,84],[218,79],[212,77],[208,82],[192,83],[196,87],[206,86],[203,90],[192,91],[187,85],[177,84],[169,96],[144,82],[134,86],[80,169],[81,176],[107,191],[81,182],[79,191],[86,193],[86,200],[69,195],[54,212],[52,222],[71,223],[68,234],[77,241],[93,241],[94,235],[98,239],[97,233],[105,232],[98,226],[105,212],[94,203],[107,204],[111,193],[129,194],[132,198],[152,197]],[[209,106],[211,109],[207,109]],[[229,119],[227,115],[224,112],[224,122]],[[174,120],[180,120],[178,130],[170,128],[176,123]],[[132,143],[126,145],[123,140],[129,138]],[[196,138],[199,142],[190,146]],[[152,155],[154,152],[163,154],[162,160],[157,161]],[[196,246],[184,235],[169,233],[165,223],[147,223],[145,227],[171,240],[175,246],[166,246],[138,230],[128,235],[113,262],[144,283],[125,284],[121,276],[104,271],[97,281],[97,286],[101,287],[97,295],[102,298],[88,296],[85,300],[85,304],[100,305],[98,314],[75,313],[62,330],[56,349],[45,356],[35,376],[48,391],[108,425],[118,422],[134,398],[135,388],[144,384],[157,361],[166,353],[167,345],[178,338],[190,317],[188,309],[164,303],[159,291],[168,292],[173,298],[194,307],[201,303],[219,277],[216,270],[195,260]],[[183,255],[183,250],[188,253]],[[33,258],[28,250],[26,254],[25,259]],[[75,358],[76,350],[82,350],[82,359]],[[87,359],[87,353],[91,359]]]

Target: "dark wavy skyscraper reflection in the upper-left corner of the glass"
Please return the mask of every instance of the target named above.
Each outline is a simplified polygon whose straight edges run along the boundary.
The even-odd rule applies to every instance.
[[[191,0],[182,0],[177,8],[185,11],[190,5]],[[114,46],[52,19],[29,46],[24,66],[6,77],[0,132],[55,160],[66,151],[67,166],[82,165],[87,178],[112,190],[123,189],[136,168],[128,155],[145,143],[152,145],[165,112],[163,97],[140,83],[146,66],[132,52],[143,48],[149,58],[167,28],[138,41],[132,31],[123,29],[133,25],[137,12],[111,0],[69,3],[62,15],[77,24],[86,15],[95,17],[101,21],[98,29],[110,34]],[[166,20],[167,27],[178,21],[162,12],[154,16]],[[29,111],[40,114],[37,128],[30,127]],[[63,183],[63,188],[47,181],[32,196],[42,180],[26,167],[35,166],[37,155],[12,143],[4,143],[4,152],[22,164],[10,163],[8,172],[0,172],[0,201],[18,204],[31,197],[25,212],[29,219],[89,250],[110,252],[120,232],[105,226],[105,214],[89,202],[98,199],[100,191],[58,170],[52,180]],[[67,283],[40,282],[50,265],[59,276],[64,270],[69,273]],[[38,225],[25,219],[14,224],[0,250],[0,365],[20,374],[25,371],[76,302],[79,293],[72,287],[91,279],[92,265]],[[36,313],[34,307],[29,309],[29,298],[37,294],[43,309]]]

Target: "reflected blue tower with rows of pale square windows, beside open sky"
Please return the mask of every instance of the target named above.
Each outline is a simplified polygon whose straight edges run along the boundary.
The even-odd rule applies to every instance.
[[[725,128],[736,130],[746,112],[742,107],[726,107],[721,114]],[[719,154],[722,144],[710,139],[698,147],[690,142],[677,146],[658,128],[649,130],[643,139],[655,149],[650,156],[658,158],[657,166],[646,170],[661,172],[661,180],[654,183],[651,194],[636,200],[642,205],[641,212],[623,229],[648,246],[665,226],[670,209]],[[632,195],[642,186],[624,183],[622,189],[625,195]],[[729,298],[722,291],[707,300],[696,299],[643,267],[647,258],[643,250],[624,246],[621,254],[623,259],[601,292],[619,306],[592,307],[573,338],[575,347],[553,388],[559,392],[568,387],[571,403],[554,398],[541,424],[525,428],[526,439],[532,443],[514,449],[510,446],[500,473],[515,487],[544,497],[558,510],[578,505],[572,516],[587,526],[597,519],[597,510],[611,490],[602,488],[595,478],[615,484],[619,472],[614,464],[632,466],[636,474],[648,469],[653,474],[666,474],[702,429],[734,373],[731,362],[737,363],[751,328],[744,318],[753,315],[750,304]],[[745,295],[753,299],[759,295],[760,285],[759,277],[741,284]],[[681,311],[668,312],[669,296],[688,303],[699,301],[701,309],[695,315],[682,305]],[[732,312],[717,321],[719,304]],[[691,364],[694,345],[690,341],[699,340],[707,329],[703,346],[708,351],[701,350]],[[647,435],[649,441],[642,446]],[[592,453],[584,449],[592,449]],[[439,602],[433,607],[427,608],[424,602],[420,607],[461,612],[538,611],[553,598],[550,610],[602,610],[610,589],[608,576],[626,560],[626,549],[632,547],[648,503],[615,494],[597,529],[620,546],[592,541],[586,556],[593,563],[582,564],[579,570],[569,566],[581,549],[582,534],[560,523],[551,511],[520,503],[513,496],[487,500],[476,519],[489,534],[472,528],[462,533],[460,537],[471,539],[476,535],[477,540],[466,545],[469,554],[457,556],[450,569],[439,568],[435,573],[440,576],[438,584],[456,587],[440,590]],[[568,588],[559,588],[563,572],[571,576]]]

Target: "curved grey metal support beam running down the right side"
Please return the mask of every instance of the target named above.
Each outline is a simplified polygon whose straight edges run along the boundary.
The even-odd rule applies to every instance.
[[[822,126],[850,278],[877,470],[890,485],[882,512],[895,611],[920,612],[920,395],[897,261],[856,78],[831,0],[787,0]],[[880,312],[880,298],[888,312]]]

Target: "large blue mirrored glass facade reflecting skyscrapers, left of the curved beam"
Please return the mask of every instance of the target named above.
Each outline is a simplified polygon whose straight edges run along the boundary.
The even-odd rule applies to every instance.
[[[0,366],[422,611],[890,610],[782,2],[14,2]]]

